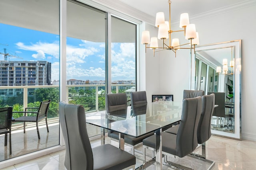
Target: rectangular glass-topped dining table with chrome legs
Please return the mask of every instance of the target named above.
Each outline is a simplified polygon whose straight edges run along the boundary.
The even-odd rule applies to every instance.
[[[140,137],[156,134],[156,169],[162,169],[162,128],[181,119],[182,102],[159,101],[136,106],[119,107],[115,111],[86,114],[86,123],[101,127],[101,144],[105,130],[119,133],[119,148],[124,150],[124,135]]]

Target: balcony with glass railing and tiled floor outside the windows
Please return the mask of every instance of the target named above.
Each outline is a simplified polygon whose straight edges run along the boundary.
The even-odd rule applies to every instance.
[[[120,85],[113,85],[112,92],[120,92]],[[122,84],[124,86],[124,84]],[[135,86],[134,84],[126,84],[127,87]],[[96,112],[104,111],[105,105],[105,94],[104,90],[100,90],[105,86],[102,85],[66,85],[66,98],[68,98],[70,103],[82,104],[86,112]],[[90,90],[89,90],[90,89]],[[87,90],[87,91],[86,91]],[[28,154],[37,150],[45,149],[48,147],[59,145],[59,118],[58,118],[58,101],[59,101],[59,86],[0,86],[0,92],[2,94],[7,94],[7,92],[13,92],[13,94],[18,96],[6,96],[0,104],[7,104],[7,101],[12,101],[8,103],[13,109],[23,110],[25,107],[36,106],[40,103],[39,96],[37,94],[42,94],[42,92],[56,92],[57,95],[51,94],[52,97],[49,111],[48,111],[48,127],[49,133],[47,133],[45,121],[39,122],[39,132],[41,139],[38,140],[36,125],[35,123],[27,123],[26,133],[23,133],[23,123],[13,123],[12,124],[12,154],[9,154],[9,145],[4,146],[4,135],[0,135],[0,161],[9,158],[14,158],[16,156]],[[10,93],[9,93],[10,94]],[[20,97],[22,97],[20,99]],[[92,101],[92,104],[88,102],[81,102],[76,99],[78,98],[88,98]],[[15,102],[14,100],[18,101]],[[102,101],[103,100],[103,101]],[[16,118],[17,115],[13,115]],[[100,134],[100,128],[93,125],[87,125],[88,134],[90,137]]]

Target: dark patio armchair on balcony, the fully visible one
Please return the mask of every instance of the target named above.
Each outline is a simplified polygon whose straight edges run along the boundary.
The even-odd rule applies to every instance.
[[[12,113],[24,113],[24,116],[18,117],[12,121],[13,122],[24,122],[24,127],[23,127],[24,133],[26,132],[26,122],[36,122],[36,131],[37,131],[38,139],[40,139],[39,127],[38,127],[39,121],[42,121],[45,119],[46,129],[47,129],[47,132],[49,132],[48,123],[47,123],[47,114],[48,114],[50,102],[51,102],[51,100],[45,100],[40,103],[39,107],[26,107],[25,111],[14,111]],[[36,109],[36,111],[29,111],[29,109]],[[28,116],[27,115],[28,113],[30,113],[30,114],[34,113],[36,115]]]

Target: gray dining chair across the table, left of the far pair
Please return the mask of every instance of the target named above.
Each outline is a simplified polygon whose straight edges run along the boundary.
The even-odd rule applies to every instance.
[[[106,110],[108,114],[126,117],[127,115],[126,94],[125,93],[106,94]],[[132,152],[134,154],[134,150],[135,150],[134,147],[139,143],[142,143],[143,139],[151,135],[154,135],[154,133],[148,133],[140,137],[130,137],[128,135],[124,135],[124,143],[132,147]],[[108,130],[108,137],[119,140],[119,133]]]

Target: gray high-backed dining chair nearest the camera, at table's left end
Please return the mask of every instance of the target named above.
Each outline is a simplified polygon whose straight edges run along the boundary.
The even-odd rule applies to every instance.
[[[84,107],[60,102],[60,125],[66,143],[67,170],[135,169],[134,155],[110,144],[91,148]]]

